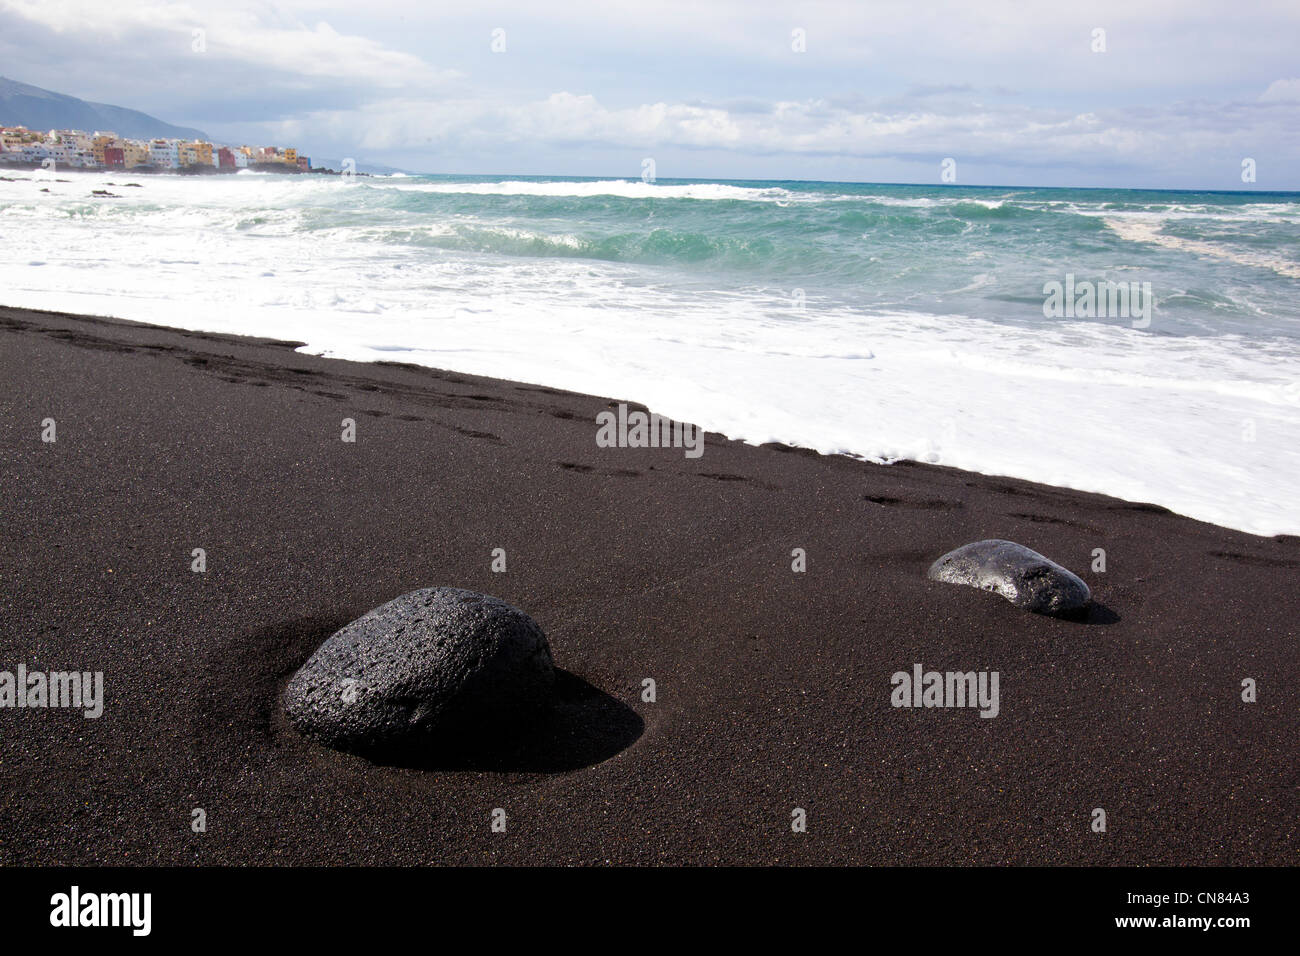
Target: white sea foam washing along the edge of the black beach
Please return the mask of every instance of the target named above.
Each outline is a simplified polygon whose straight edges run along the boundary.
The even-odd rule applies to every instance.
[[[1292,343],[842,303],[794,311],[770,291],[677,285],[624,263],[430,252],[378,241],[365,222],[302,232],[343,203],[338,190],[358,189],[338,181],[60,178],[73,182],[0,183],[5,304],[298,339],[321,355],[634,399],[755,442],[937,462],[1300,533]],[[429,186],[370,182],[347,202]],[[121,198],[92,200],[92,187]],[[419,219],[411,229],[447,234]]]

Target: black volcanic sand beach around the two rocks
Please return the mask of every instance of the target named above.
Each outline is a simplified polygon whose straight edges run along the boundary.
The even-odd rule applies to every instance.
[[[607,399],[285,342],[6,308],[0,343],[0,670],[107,698],[0,710],[0,862],[1296,862],[1295,537],[714,434],[598,449]],[[926,579],[985,537],[1097,607]],[[419,766],[300,739],[289,676],[425,585],[536,618],[556,717]],[[998,671],[1001,713],[892,708],[914,663]]]

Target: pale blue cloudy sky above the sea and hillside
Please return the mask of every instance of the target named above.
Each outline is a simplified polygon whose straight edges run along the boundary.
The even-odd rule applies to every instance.
[[[421,172],[1300,189],[1295,0],[0,0],[0,73]]]

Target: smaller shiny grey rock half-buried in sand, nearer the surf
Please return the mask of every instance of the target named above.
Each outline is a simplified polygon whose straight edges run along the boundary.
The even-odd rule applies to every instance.
[[[1024,545],[1000,538],[949,551],[930,566],[928,576],[996,592],[1037,614],[1075,614],[1092,600],[1088,585],[1074,572]]]

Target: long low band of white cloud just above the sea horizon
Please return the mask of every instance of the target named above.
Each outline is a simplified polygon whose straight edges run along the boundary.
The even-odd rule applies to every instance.
[[[555,92],[528,103],[406,100],[321,111],[272,124],[268,135],[291,139],[315,130],[339,148],[365,151],[504,151],[568,144],[1149,168],[1186,163],[1214,150],[1231,159],[1234,130],[1243,126],[1266,129],[1291,150],[1300,140],[1300,131],[1287,129],[1283,117],[1270,117],[1266,108],[1252,104],[1226,113],[1182,104],[1140,116],[1121,109],[1072,113],[1018,104],[953,104],[950,111],[852,111],[822,99],[780,101],[770,112],[733,113],[680,103],[612,108],[590,94]]]

